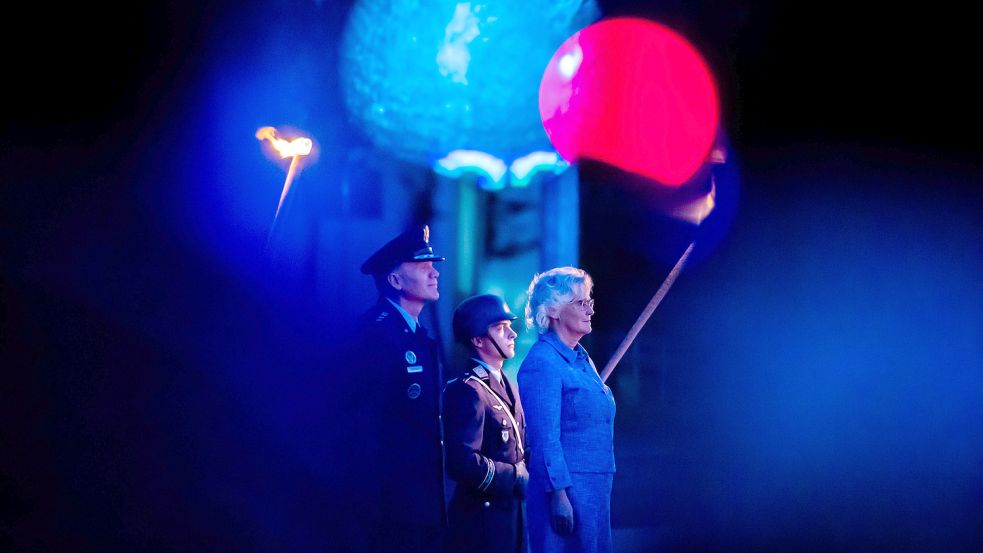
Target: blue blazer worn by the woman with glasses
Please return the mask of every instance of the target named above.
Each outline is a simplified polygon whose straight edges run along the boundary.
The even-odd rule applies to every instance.
[[[613,473],[615,403],[587,351],[539,336],[518,373],[526,413],[529,484],[570,486],[571,472]]]

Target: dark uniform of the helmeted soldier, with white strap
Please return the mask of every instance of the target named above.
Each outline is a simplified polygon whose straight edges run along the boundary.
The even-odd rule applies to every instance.
[[[457,483],[448,509],[451,551],[525,551],[515,465],[525,462],[526,420],[518,389],[503,381],[474,363],[444,390],[447,472]]]

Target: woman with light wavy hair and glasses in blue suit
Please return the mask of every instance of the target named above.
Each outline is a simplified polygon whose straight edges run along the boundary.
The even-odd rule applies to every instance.
[[[615,403],[580,340],[591,331],[594,282],[575,267],[537,274],[526,324],[539,340],[519,368],[529,444],[533,553],[611,545]]]

